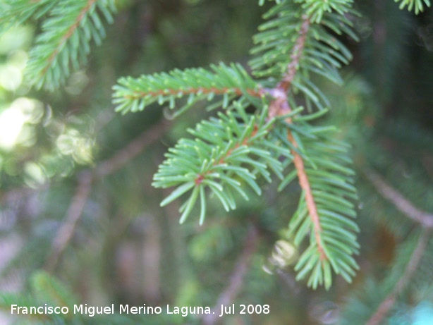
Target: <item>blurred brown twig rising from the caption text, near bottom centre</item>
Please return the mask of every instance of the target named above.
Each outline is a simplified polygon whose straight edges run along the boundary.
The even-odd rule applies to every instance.
[[[257,228],[255,226],[250,226],[243,251],[238,259],[238,262],[236,262],[236,266],[230,276],[228,285],[221,295],[219,295],[216,305],[212,308],[210,314],[205,314],[203,317],[203,325],[216,324],[220,319],[219,311],[221,311],[221,306],[230,305],[231,302],[233,302],[233,300],[236,298],[236,295],[238,295],[240,288],[242,288],[245,274],[248,271],[248,264],[250,264],[251,257],[257,247],[258,239],[259,234]]]

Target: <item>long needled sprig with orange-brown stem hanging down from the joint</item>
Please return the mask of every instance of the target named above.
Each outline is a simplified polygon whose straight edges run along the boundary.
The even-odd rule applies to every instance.
[[[310,234],[310,247],[295,266],[297,278],[310,274],[309,286],[316,288],[324,283],[329,288],[332,268],[350,282],[358,269],[352,255],[358,253],[355,233],[359,228],[350,220],[356,213],[348,199],[356,200],[356,195],[347,146],[334,139],[330,128],[285,122],[286,144],[292,149],[295,174],[288,173],[279,190],[295,176],[303,189],[298,210],[289,223],[288,238],[299,246]]]

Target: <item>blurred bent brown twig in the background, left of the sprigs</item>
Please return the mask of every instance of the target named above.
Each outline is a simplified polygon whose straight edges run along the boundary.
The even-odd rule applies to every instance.
[[[102,161],[93,170],[83,171],[78,176],[78,186],[71,204],[66,212],[65,221],[56,233],[51,245],[51,255],[47,259],[46,269],[52,270],[59,262],[61,255],[73,237],[78,220],[83,214],[85,202],[90,195],[92,183],[95,180],[108,176],[122,168],[130,160],[135,158],[145,147],[155,142],[166,131],[167,123],[157,123],[152,128],[145,130],[135,138],[128,146],[120,149],[111,158]]]

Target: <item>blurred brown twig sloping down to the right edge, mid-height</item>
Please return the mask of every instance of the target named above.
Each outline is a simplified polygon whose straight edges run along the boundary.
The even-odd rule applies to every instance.
[[[412,203],[410,203],[403,195],[394,190],[389,186],[384,178],[380,176],[375,171],[371,169],[364,169],[364,175],[370,180],[370,183],[376,188],[377,192],[379,192],[386,200],[389,200],[394,206],[403,212],[406,216],[408,216],[413,221],[420,223],[421,226],[433,229],[433,214],[429,214],[425,211],[417,209],[414,207]]]

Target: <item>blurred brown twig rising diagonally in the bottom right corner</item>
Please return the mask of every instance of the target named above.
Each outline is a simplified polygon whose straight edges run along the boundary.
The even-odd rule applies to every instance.
[[[415,250],[413,250],[403,276],[401,277],[400,281],[396,283],[394,290],[392,290],[392,292],[382,301],[377,308],[377,311],[367,321],[367,325],[381,324],[396,303],[398,295],[408,286],[410,279],[413,278],[413,275],[415,274],[417,266],[420,264],[422,255],[424,255],[431,232],[431,229],[424,228],[422,230],[420,238],[418,239],[417,247],[415,247]]]

